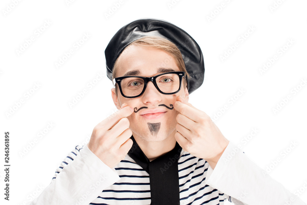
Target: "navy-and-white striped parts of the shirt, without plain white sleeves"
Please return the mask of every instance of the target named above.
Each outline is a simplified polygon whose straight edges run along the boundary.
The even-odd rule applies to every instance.
[[[56,170],[52,180],[74,160],[84,146],[75,147]],[[169,165],[172,166],[171,163]],[[169,165],[165,165],[164,169]],[[208,167],[209,163],[204,159],[181,151],[178,159],[180,204],[224,204],[228,196],[204,182]],[[125,159],[115,166],[115,170],[120,180],[105,188],[90,204],[150,204],[149,174],[142,167],[126,155]]]

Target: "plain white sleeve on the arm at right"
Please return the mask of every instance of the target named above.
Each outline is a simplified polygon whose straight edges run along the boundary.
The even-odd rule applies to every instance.
[[[228,200],[238,205],[306,205],[281,183],[272,179],[231,141],[216,167],[212,169],[209,165],[205,182],[226,196],[231,196],[231,200]]]

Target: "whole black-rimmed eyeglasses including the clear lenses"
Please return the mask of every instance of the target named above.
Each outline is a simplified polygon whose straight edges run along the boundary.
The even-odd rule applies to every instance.
[[[113,79],[113,86],[115,87],[117,83],[123,97],[134,98],[141,96],[145,92],[148,82],[151,81],[160,93],[171,95],[180,91],[184,75],[184,71],[174,71],[153,77],[122,76]]]

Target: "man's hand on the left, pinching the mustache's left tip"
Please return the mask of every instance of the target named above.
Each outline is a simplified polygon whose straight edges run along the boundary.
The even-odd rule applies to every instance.
[[[110,168],[123,160],[132,147],[132,131],[129,129],[130,123],[127,118],[132,113],[133,108],[123,103],[117,112],[93,129],[87,147]]]

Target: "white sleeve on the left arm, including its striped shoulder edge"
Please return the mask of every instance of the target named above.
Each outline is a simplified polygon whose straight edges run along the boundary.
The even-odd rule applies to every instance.
[[[87,145],[76,146],[30,205],[87,205],[119,179],[115,169],[104,164]]]

